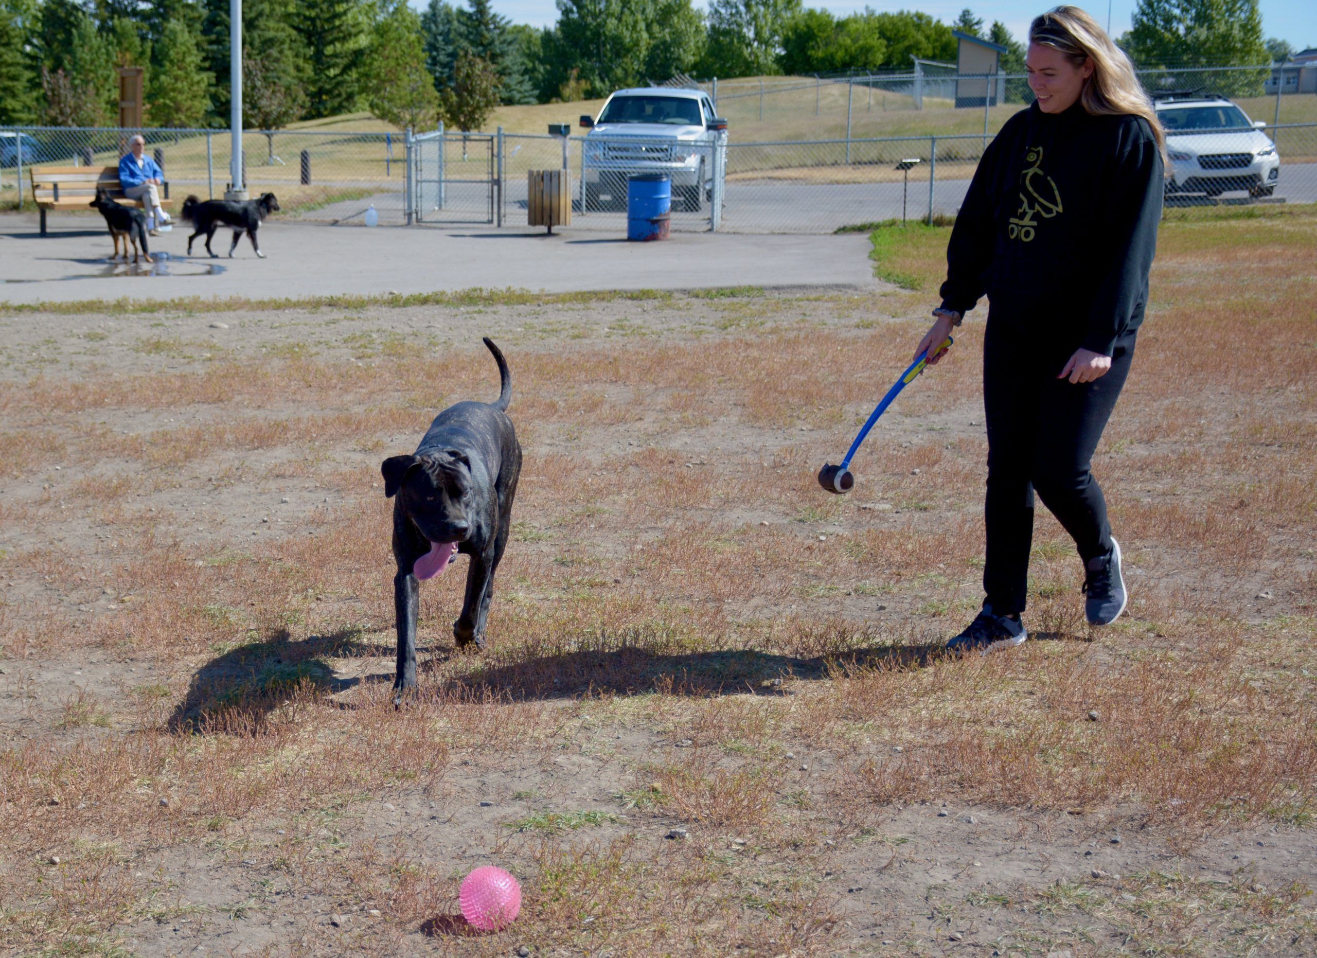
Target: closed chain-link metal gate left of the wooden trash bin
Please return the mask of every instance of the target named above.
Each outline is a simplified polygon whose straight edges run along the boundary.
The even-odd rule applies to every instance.
[[[421,133],[411,141],[411,221],[493,224],[498,190],[491,133]]]

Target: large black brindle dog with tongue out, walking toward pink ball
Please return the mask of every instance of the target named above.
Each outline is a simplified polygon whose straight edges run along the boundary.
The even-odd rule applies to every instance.
[[[512,374],[489,337],[485,345],[498,362],[498,402],[460,402],[435,416],[411,456],[392,456],[381,465],[385,495],[394,502],[394,607],[398,614],[398,698],[416,685],[417,580],[432,578],[462,552],[471,557],[466,601],[453,623],[458,648],[485,648],[485,621],[498,569],[512,526],[512,498],[522,474],[507,405]]]

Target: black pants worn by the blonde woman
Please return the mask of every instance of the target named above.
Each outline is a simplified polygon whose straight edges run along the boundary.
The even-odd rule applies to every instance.
[[[1129,376],[1135,336],[1130,332],[1115,341],[1105,376],[1076,385],[1056,374],[1079,348],[1079,336],[1048,335],[1043,323],[988,316],[984,590],[998,615],[1025,611],[1034,493],[1075,539],[1085,563],[1112,548],[1106,499],[1089,464]]]

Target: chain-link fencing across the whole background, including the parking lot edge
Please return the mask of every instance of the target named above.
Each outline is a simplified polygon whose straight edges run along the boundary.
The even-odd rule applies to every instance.
[[[665,171],[673,182],[676,231],[827,233],[889,219],[955,215],[984,148],[1029,94],[1023,78],[967,78],[936,66],[925,63],[919,74],[900,76],[718,83],[718,112],[728,119],[731,136],[716,142],[503,130],[440,129],[415,137],[248,132],[248,188],[275,192],[281,216],[292,220],[361,223],[374,206],[386,224],[516,227],[527,223],[527,173],[565,169],[573,179],[573,228],[622,233],[626,178]],[[1171,152],[1168,207],[1317,202],[1317,95],[1291,82],[1288,72],[1231,67],[1141,74],[1163,95],[1230,94],[1247,120],[1262,123],[1260,129],[1243,121],[1221,128],[1225,121],[1184,115],[1176,127],[1163,115]],[[957,84],[967,79],[979,80],[979,105],[956,108]],[[1243,95],[1268,84],[1274,92]],[[30,204],[22,170],[33,163],[117,165],[129,134],[0,128],[0,202],[24,198]],[[142,134],[175,204],[188,194],[224,194],[230,145],[225,130]],[[16,188],[20,175],[22,190]]]

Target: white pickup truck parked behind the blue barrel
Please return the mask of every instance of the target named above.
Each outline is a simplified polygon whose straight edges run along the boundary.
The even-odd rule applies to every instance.
[[[582,116],[581,125],[590,130],[581,157],[587,211],[624,210],[627,178],[641,173],[672,178],[673,210],[698,212],[712,199],[714,154],[727,121],[714,116],[702,90],[619,90],[598,120]]]

